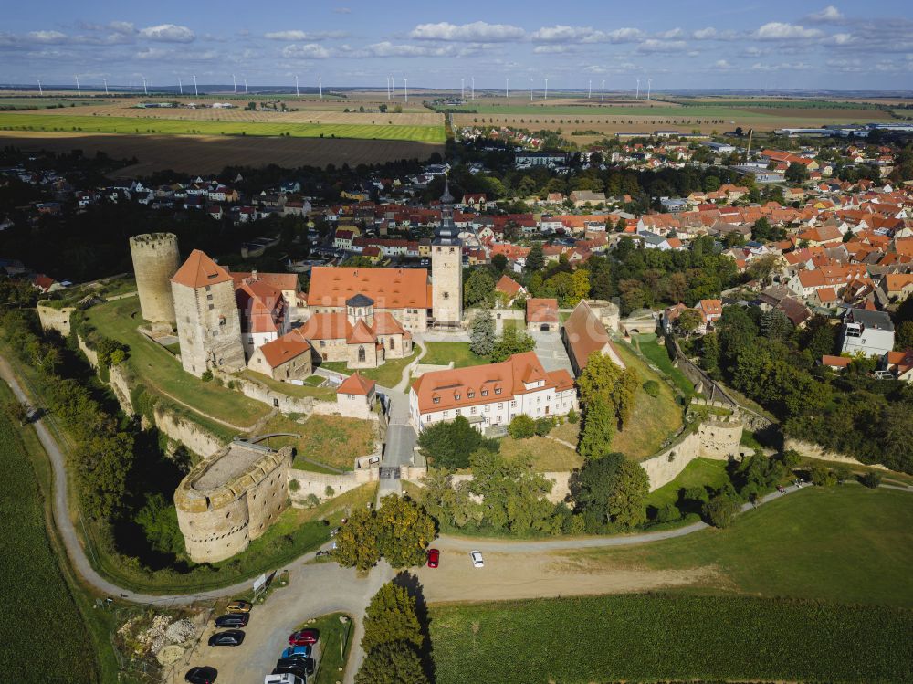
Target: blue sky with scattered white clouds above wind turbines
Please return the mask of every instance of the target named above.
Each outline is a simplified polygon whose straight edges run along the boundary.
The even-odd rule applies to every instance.
[[[913,3],[8,3],[0,85],[913,90]]]

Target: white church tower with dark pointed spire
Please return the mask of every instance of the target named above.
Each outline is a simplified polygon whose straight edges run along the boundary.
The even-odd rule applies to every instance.
[[[463,322],[463,243],[454,225],[450,184],[441,195],[441,223],[431,241],[432,313],[436,328],[459,328]]]

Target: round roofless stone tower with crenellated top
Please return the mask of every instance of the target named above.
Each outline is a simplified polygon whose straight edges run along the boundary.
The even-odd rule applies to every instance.
[[[174,325],[171,278],[181,266],[177,236],[145,233],[130,238],[130,256],[136,274],[142,318],[151,323]]]

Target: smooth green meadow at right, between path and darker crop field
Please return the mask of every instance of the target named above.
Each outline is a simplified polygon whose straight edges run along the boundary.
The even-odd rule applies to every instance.
[[[726,530],[577,555],[627,567],[713,567],[709,586],[726,592],[911,608],[913,495],[810,488],[743,513]]]

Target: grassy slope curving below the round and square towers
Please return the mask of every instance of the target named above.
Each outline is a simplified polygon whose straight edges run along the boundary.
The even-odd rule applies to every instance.
[[[185,373],[171,353],[138,332],[136,329],[143,321],[140,301],[135,297],[98,304],[87,310],[86,315],[100,334],[130,347],[126,363],[152,392],[177,397],[204,416],[213,416],[236,426],[251,426],[267,415],[268,405]],[[193,413],[188,409],[188,417],[193,418]]]

